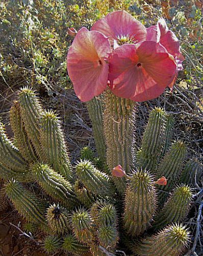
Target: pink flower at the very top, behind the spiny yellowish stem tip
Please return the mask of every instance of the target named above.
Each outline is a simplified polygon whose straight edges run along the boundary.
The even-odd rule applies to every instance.
[[[99,19],[91,30],[102,32],[108,36],[111,45],[116,45],[116,47],[125,42],[136,44],[146,39],[144,25],[126,11],[109,13],[105,18]]]

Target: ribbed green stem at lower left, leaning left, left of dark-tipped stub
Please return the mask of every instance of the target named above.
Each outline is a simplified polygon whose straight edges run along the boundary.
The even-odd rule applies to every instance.
[[[15,180],[6,182],[5,191],[19,214],[27,221],[46,226],[45,207],[39,198]]]

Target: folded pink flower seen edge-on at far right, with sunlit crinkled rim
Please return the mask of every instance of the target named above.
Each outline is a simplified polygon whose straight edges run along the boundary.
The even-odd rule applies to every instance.
[[[158,20],[157,25],[147,28],[146,40],[159,42],[166,48],[168,53],[174,56],[177,63],[177,71],[183,69],[182,62],[184,57],[180,51],[180,42],[175,34],[168,29],[163,18]]]

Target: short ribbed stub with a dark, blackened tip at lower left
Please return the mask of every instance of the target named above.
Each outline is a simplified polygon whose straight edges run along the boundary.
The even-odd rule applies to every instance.
[[[68,212],[59,204],[53,204],[48,207],[46,220],[53,233],[63,234],[70,230]]]

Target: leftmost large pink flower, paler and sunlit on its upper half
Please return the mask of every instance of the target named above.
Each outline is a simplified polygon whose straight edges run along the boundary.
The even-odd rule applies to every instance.
[[[67,70],[80,100],[88,101],[106,89],[110,53],[110,42],[100,32],[82,28],[75,36],[67,55]]]

